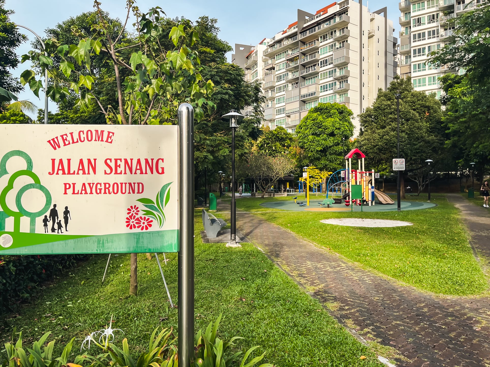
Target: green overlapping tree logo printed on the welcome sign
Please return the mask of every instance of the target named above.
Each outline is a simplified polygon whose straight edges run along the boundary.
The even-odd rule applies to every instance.
[[[8,217],[14,217],[14,232],[20,232],[21,231],[21,217],[28,217],[30,218],[30,226],[29,226],[29,232],[30,233],[35,233],[36,231],[36,218],[40,217],[44,213],[46,213],[51,206],[51,194],[49,193],[48,189],[41,184],[41,181],[39,180],[39,177],[32,172],[32,160],[31,158],[23,151],[20,150],[12,150],[8,153],[6,153],[1,161],[0,161],[0,177],[7,175],[7,161],[12,158],[12,157],[21,157],[25,160],[26,163],[26,169],[19,170],[15,173],[12,174],[12,176],[9,178],[7,185],[3,188],[3,190],[0,193],[0,207],[2,208],[3,211],[0,211],[0,230],[5,230],[5,219]],[[17,192],[17,195],[15,196],[15,205],[17,207],[18,211],[12,210],[7,206],[6,203],[6,198],[7,194],[10,190],[14,188],[14,183],[15,180],[17,180],[21,176],[28,176],[34,181],[32,184],[26,184],[21,187],[21,189]],[[39,211],[36,212],[30,212],[24,208],[22,205],[22,195],[27,190],[30,189],[37,189],[40,190],[45,198],[46,198],[46,204],[43,206],[43,208]]]

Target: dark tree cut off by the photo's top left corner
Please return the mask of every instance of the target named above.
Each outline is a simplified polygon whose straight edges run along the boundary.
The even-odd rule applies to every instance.
[[[19,59],[15,49],[20,46],[27,37],[20,33],[17,25],[10,21],[13,10],[5,9],[5,0],[0,0],[0,87],[10,93],[22,91],[21,83],[10,74],[10,69],[19,65]],[[11,99],[0,93],[0,101],[8,102]]]

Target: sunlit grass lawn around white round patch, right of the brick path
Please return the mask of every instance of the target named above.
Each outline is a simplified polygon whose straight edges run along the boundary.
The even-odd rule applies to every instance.
[[[346,258],[406,284],[443,295],[482,295],[487,278],[473,257],[459,211],[442,194],[431,195],[438,206],[401,212],[284,212],[257,213],[261,217]],[[242,199],[245,211],[266,211],[265,200]],[[407,197],[426,201],[426,195]],[[355,228],[320,223],[326,218],[377,218],[411,222],[395,228]]]

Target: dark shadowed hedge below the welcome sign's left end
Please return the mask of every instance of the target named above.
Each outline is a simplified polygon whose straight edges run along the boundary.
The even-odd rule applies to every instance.
[[[0,256],[0,316],[28,300],[40,284],[63,269],[70,269],[86,255]]]

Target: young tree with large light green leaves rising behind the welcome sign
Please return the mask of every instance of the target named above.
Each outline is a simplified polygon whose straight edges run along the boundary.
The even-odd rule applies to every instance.
[[[172,49],[163,49],[158,43],[162,27],[158,25],[163,12],[161,8],[151,8],[141,13],[134,0],[127,0],[127,14],[123,27],[114,36],[107,15],[102,12],[96,0],[97,24],[92,24],[89,32],[73,27],[73,34],[79,39],[77,45],[63,44],[56,39],[46,41],[46,52],[30,51],[23,55],[23,62],[30,60],[35,68],[48,70],[51,85],[44,86],[48,96],[55,102],[64,101],[70,94],[77,95],[75,105],[82,110],[95,101],[108,123],[121,124],[160,124],[176,120],[178,105],[184,101],[195,107],[197,120],[203,111],[214,105],[206,100],[213,90],[211,81],[204,82],[200,71],[197,50],[193,48],[198,39],[190,21],[182,21],[172,27],[169,38]],[[131,12],[135,15],[135,33],[127,46],[118,47]],[[128,52],[130,50],[131,52]],[[123,52],[125,51],[125,52]],[[103,105],[92,91],[92,84],[98,77],[93,69],[93,59],[100,52],[112,65],[114,74],[102,75],[102,78],[115,80],[117,108]],[[59,68],[54,67],[54,58],[59,58]],[[75,65],[82,71],[75,69]],[[127,76],[122,73],[124,70]],[[75,81],[67,80],[71,73],[76,74]],[[43,88],[42,81],[36,80],[34,70],[25,70],[21,74],[21,83],[29,84],[38,95]]]

